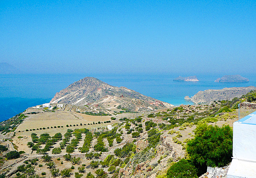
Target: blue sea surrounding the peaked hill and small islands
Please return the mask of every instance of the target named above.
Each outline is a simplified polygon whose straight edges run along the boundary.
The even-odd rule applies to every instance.
[[[194,104],[184,100],[198,91],[225,87],[256,86],[256,76],[243,75],[249,83],[217,83],[222,75],[196,75],[199,82],[176,82],[178,74],[0,74],[0,122],[28,107],[49,103],[56,92],[86,76],[113,86],[127,87],[143,95],[179,106]],[[186,75],[184,75],[186,76]]]

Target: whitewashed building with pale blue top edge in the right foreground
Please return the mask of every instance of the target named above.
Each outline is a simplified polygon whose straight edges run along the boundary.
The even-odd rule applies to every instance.
[[[233,159],[227,178],[256,178],[256,111],[233,123]]]

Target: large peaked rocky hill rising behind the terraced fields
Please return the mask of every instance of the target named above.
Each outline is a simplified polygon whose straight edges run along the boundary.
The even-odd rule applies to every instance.
[[[56,93],[50,103],[148,110],[173,105],[142,95],[126,87],[114,87],[94,77],[85,77]]]

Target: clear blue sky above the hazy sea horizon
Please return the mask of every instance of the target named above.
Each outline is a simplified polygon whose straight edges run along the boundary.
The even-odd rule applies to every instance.
[[[256,74],[256,1],[0,1],[0,62],[31,73]]]

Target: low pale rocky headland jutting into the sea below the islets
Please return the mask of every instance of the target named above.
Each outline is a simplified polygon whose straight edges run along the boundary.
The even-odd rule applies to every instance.
[[[223,88],[221,90],[204,90],[196,93],[191,101],[194,103],[210,103],[218,100],[231,100],[235,97],[239,98],[246,93],[255,90],[256,87],[231,87],[231,88]],[[188,97],[187,97],[188,99]]]

